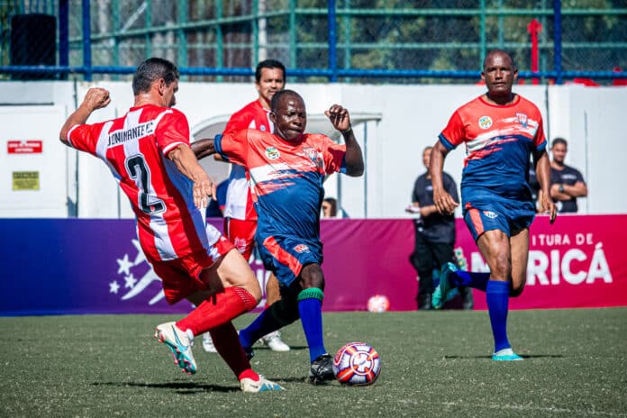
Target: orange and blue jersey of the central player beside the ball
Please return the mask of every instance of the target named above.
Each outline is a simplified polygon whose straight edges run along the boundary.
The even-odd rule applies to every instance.
[[[250,174],[258,242],[270,236],[319,240],[323,179],[346,172],[345,145],[323,134],[304,133],[289,142],[249,129],[217,136],[215,150]]]

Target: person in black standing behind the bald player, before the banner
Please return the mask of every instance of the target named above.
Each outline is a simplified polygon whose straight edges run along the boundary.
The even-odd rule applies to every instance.
[[[427,169],[432,149],[433,147],[427,147],[423,150],[423,165]],[[446,191],[458,201],[457,185],[453,177],[443,172],[442,181]],[[440,271],[443,265],[455,259],[453,253],[455,216],[452,213],[440,214],[433,204],[432,177],[429,171],[416,178],[413,184],[412,204],[407,206],[405,212],[418,215],[413,221],[415,245],[410,259],[418,273],[416,295],[418,309],[429,310],[432,309],[433,269]],[[470,291],[464,292],[463,295],[465,299],[472,298]],[[468,301],[465,301],[466,303]]]

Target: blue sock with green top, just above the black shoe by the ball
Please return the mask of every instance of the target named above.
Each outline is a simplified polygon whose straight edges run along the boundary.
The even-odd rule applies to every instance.
[[[317,287],[304,289],[298,294],[298,312],[309,346],[310,361],[327,352],[323,342],[323,298],[323,291]]]

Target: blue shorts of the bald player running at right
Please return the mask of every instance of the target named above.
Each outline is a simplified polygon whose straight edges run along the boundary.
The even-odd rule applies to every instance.
[[[499,230],[511,237],[533,222],[535,211],[531,202],[493,197],[490,202],[468,202],[464,221],[475,241],[486,231]]]

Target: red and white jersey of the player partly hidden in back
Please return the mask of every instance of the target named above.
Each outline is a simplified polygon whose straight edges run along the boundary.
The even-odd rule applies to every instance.
[[[226,123],[224,132],[237,132],[243,129],[272,132],[273,123],[268,118],[269,112],[263,108],[259,100],[250,102],[232,114],[229,122]],[[257,220],[257,213],[250,197],[246,168],[236,164],[231,168],[223,216],[248,221]]]

